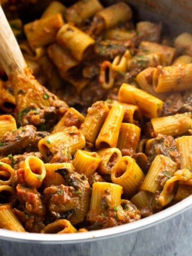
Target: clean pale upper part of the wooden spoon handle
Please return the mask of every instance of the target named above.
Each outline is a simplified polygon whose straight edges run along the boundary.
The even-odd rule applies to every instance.
[[[21,53],[17,39],[0,5],[0,62],[7,76],[23,74],[27,64]]]

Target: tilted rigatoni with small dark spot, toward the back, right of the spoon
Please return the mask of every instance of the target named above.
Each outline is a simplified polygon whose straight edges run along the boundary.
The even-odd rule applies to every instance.
[[[57,43],[67,47],[77,60],[84,60],[93,50],[94,39],[70,23],[64,24],[57,33]]]

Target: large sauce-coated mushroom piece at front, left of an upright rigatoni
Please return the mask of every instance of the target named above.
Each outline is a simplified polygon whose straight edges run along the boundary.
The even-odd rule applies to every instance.
[[[51,186],[43,194],[48,199],[49,210],[56,218],[68,219],[72,225],[82,222],[89,210],[91,196],[90,184],[83,174],[58,169],[67,186]]]

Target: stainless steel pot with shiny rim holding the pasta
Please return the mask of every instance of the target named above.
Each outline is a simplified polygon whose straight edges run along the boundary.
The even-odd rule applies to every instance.
[[[115,1],[106,1],[111,3]],[[162,21],[172,36],[192,32],[192,1],[128,0],[135,19]],[[77,234],[15,233],[0,229],[1,256],[189,256],[192,196],[145,219]]]

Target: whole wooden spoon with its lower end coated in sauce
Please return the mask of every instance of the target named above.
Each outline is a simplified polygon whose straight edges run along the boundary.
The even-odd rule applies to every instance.
[[[39,108],[55,106],[59,98],[47,90],[33,76],[23,58],[17,39],[0,5],[0,62],[13,87],[17,114],[35,103]],[[60,100],[59,100],[60,101]],[[68,108],[62,101],[62,108]],[[61,101],[59,105],[62,105]],[[61,106],[60,106],[61,107]]]

